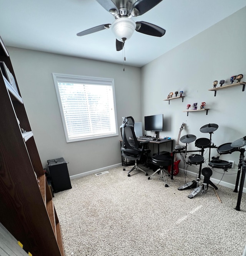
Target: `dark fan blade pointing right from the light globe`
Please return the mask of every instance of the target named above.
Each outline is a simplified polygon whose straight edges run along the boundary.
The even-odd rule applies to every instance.
[[[135,30],[137,32],[140,32],[146,35],[152,35],[154,37],[162,37],[166,33],[165,29],[148,22],[136,22]]]

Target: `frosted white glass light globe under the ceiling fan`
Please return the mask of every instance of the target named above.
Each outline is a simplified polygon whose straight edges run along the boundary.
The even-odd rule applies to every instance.
[[[120,42],[125,42],[126,39],[129,39],[133,35],[135,28],[136,23],[130,18],[125,17],[118,18],[111,24],[113,34]]]

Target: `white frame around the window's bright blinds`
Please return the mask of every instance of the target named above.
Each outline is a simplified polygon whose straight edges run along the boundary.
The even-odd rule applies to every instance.
[[[116,100],[115,100],[115,83],[113,78],[100,78],[100,77],[93,77],[93,76],[80,76],[80,75],[68,75],[68,74],[60,74],[60,73],[52,73],[53,75],[53,80],[55,83],[55,90],[57,92],[57,99],[58,99],[58,104],[62,116],[62,123],[63,123],[63,128],[65,132],[65,137],[66,137],[66,142],[73,142],[73,141],[82,141],[82,140],[91,140],[91,139],[97,139],[97,138],[105,138],[105,137],[110,137],[110,136],[118,136],[118,125],[117,125],[117,115],[116,115]],[[60,90],[59,90],[59,84],[60,83],[68,83],[68,84],[77,84],[81,86],[110,86],[112,90],[109,96],[113,97],[113,102],[111,105],[109,105],[109,109],[112,111],[110,113],[110,129],[108,131],[97,131],[96,133],[93,133],[90,130],[90,133],[82,133],[82,134],[77,134],[69,132],[69,128],[67,126],[66,118],[64,115],[64,102],[62,102]],[[108,88],[108,87],[107,87]],[[106,89],[106,88],[105,88]],[[110,103],[109,103],[110,104]],[[89,114],[90,115],[90,114]],[[87,128],[89,129],[91,126],[88,125]]]

